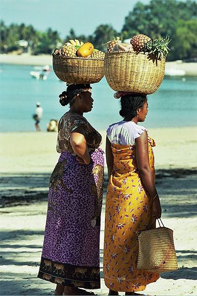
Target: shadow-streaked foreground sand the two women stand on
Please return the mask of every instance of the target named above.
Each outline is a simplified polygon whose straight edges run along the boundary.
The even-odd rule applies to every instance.
[[[102,148],[105,148],[105,132]],[[157,189],[162,221],[174,230],[179,269],[163,273],[142,294],[196,295],[197,126],[150,129],[156,141]],[[41,255],[48,179],[58,160],[56,133],[1,133],[1,295],[53,295],[54,284],[37,278]],[[106,173],[106,168],[105,168]],[[105,194],[100,244],[102,289]],[[121,295],[123,293],[120,293]]]

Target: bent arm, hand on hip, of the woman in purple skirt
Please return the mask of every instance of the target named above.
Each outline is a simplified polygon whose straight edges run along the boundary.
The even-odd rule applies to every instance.
[[[70,136],[70,144],[73,151],[79,156],[77,160],[83,164],[90,163],[90,156],[85,140],[85,131],[83,128],[77,128]]]

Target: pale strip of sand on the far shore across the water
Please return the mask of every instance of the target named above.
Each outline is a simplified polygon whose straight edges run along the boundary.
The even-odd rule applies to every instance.
[[[0,54],[0,64],[15,64],[15,65],[33,65],[43,66],[52,65],[51,55],[30,56],[28,54],[12,55]],[[185,76],[196,76],[196,63],[182,63],[181,61],[167,62],[167,70],[184,70]]]

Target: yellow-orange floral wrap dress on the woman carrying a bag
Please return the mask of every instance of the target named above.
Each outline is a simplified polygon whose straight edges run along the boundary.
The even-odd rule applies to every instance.
[[[155,142],[149,137],[149,161],[155,179]],[[136,268],[136,232],[155,228],[152,199],[143,188],[137,170],[135,146],[112,144],[114,167],[106,195],[104,279],[115,291],[141,291],[155,282],[158,273]]]

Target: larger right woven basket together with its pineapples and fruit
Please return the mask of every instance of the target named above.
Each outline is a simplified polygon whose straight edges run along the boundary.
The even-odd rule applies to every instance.
[[[169,36],[161,39],[138,34],[130,44],[120,38],[109,41],[104,70],[114,91],[153,94],[164,78]]]

